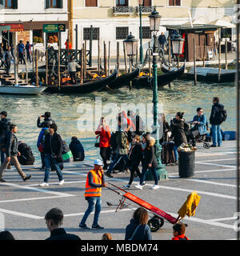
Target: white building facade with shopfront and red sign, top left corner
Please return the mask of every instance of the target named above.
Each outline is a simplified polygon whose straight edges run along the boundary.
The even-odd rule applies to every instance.
[[[68,0],[0,0],[2,26],[10,26],[10,31],[0,33],[0,42],[5,44],[38,43],[46,46],[46,40],[57,41],[58,34],[43,32],[44,24],[65,24],[66,32],[62,33],[62,46],[68,36]]]

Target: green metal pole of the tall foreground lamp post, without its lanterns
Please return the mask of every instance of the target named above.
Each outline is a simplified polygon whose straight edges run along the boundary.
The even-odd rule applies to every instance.
[[[157,162],[158,162],[158,167],[157,167],[157,176],[159,180],[166,180],[168,179],[168,173],[165,170],[165,166],[162,165],[162,160],[161,160],[161,152],[162,152],[162,146],[159,143],[159,129],[160,126],[158,124],[158,41],[157,41],[157,36],[154,34],[154,51],[153,51],[153,103],[154,103],[154,132],[156,132],[156,146],[158,148],[158,152],[156,154],[158,155]],[[152,180],[153,175],[150,170],[147,170],[146,172],[146,180]]]

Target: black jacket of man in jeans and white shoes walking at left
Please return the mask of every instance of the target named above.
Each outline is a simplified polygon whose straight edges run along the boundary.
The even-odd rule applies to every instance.
[[[44,154],[54,154],[57,157],[58,162],[63,162],[62,145],[62,138],[59,134],[54,133],[52,138],[50,134],[46,134],[43,142]]]

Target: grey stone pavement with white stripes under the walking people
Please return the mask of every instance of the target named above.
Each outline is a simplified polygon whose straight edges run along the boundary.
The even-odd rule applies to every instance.
[[[86,174],[93,162],[71,162],[65,164],[63,175],[65,184],[58,186],[55,172],[50,174],[50,186],[39,187],[44,172],[39,166],[24,166],[26,174],[33,177],[22,182],[18,173],[6,170],[4,178],[7,183],[0,183],[0,229],[5,226],[16,239],[42,240],[49,236],[44,216],[53,207],[59,207],[65,214],[63,226],[68,232],[78,234],[83,240],[100,240],[102,234],[110,232],[114,239],[124,239],[125,228],[130,222],[133,210],[138,206],[130,203],[129,208],[115,212],[119,202],[118,194],[107,190],[102,191],[102,213],[99,224],[105,230],[79,230],[87,203],[84,198]],[[192,240],[234,239],[234,213],[236,210],[236,142],[223,142],[222,147],[204,149],[198,145],[193,178],[179,178],[178,166],[166,166],[170,178],[159,183],[159,190],[151,190],[154,182],[147,182],[143,190],[137,190],[135,178],[130,193],[150,202],[161,210],[178,216],[178,210],[186,201],[186,197],[196,190],[202,197],[194,217],[185,218],[188,224],[186,235]],[[114,174],[114,178],[106,178],[122,187],[129,179],[129,174]],[[114,204],[107,206],[106,202]],[[132,208],[132,209],[130,209]],[[1,214],[2,213],[2,214]],[[93,214],[87,220],[91,226]],[[158,232],[153,233],[154,240],[170,240],[172,224],[165,222]]]

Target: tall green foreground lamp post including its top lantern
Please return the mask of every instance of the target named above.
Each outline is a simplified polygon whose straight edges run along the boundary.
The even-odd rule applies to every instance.
[[[168,174],[165,170],[165,166],[162,165],[161,160],[161,152],[162,146],[159,143],[159,130],[160,126],[158,124],[158,41],[157,41],[157,33],[160,26],[161,16],[159,15],[158,11],[154,9],[149,16],[150,18],[150,30],[154,34],[154,47],[153,47],[153,81],[154,81],[154,91],[153,91],[153,103],[154,103],[154,132],[156,132],[156,146],[157,151],[156,155],[158,156],[157,162],[157,175],[159,180],[166,180],[168,179]],[[153,176],[148,170],[146,172],[146,180],[153,180]]]

